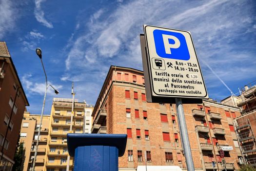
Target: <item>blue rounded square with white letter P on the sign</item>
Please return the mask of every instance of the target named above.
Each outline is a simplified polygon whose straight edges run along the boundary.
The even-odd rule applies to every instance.
[[[188,45],[183,34],[156,29],[153,35],[159,57],[186,61],[190,59]]]

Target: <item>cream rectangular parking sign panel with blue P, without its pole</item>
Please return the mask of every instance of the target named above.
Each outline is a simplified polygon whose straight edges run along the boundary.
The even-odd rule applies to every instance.
[[[152,96],[208,99],[190,33],[144,25],[144,34]]]

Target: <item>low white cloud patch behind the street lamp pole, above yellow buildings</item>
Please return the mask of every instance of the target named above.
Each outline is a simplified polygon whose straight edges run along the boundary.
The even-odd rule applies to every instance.
[[[35,83],[32,80],[32,74],[25,74],[21,78],[21,82],[23,85],[25,85],[25,88],[27,90],[27,94],[40,94],[44,95],[45,93],[45,83]],[[52,85],[55,89],[59,90],[62,88],[62,85],[53,85],[51,82],[48,82],[48,85]],[[49,86],[47,90],[47,94],[54,96],[54,90]]]

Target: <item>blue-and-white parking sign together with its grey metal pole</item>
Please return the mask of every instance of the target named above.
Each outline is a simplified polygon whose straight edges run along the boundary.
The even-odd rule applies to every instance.
[[[144,25],[140,35],[147,102],[176,104],[188,171],[194,171],[183,104],[208,99],[191,35],[187,31]]]

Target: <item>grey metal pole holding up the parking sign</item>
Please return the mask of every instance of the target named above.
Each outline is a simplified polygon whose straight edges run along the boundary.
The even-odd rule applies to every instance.
[[[188,130],[187,130],[184,110],[183,110],[183,106],[182,106],[182,101],[181,101],[181,98],[175,98],[175,101],[176,101],[177,116],[178,116],[178,122],[179,122],[178,124],[180,127],[180,138],[182,140],[182,145],[183,145],[183,149],[184,149],[187,170],[195,171],[192,153],[191,153],[191,149],[190,149],[189,138],[188,138]]]

